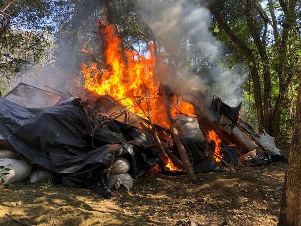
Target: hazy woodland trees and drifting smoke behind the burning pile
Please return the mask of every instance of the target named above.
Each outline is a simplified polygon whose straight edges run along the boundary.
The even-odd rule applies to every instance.
[[[172,5],[181,7],[168,12]],[[274,136],[291,136],[301,65],[300,1],[10,0],[0,6],[3,93],[20,81],[69,92],[82,86],[81,63],[103,64],[96,32],[105,20],[115,25],[124,48],[143,55],[154,42],[158,63],[175,75],[183,68],[195,73],[211,94],[223,91],[227,76],[241,80],[231,88],[243,100],[243,118]],[[226,68],[231,71],[223,73]]]

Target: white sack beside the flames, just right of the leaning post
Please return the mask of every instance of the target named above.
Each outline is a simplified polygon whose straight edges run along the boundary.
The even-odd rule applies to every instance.
[[[187,116],[177,116],[174,118],[174,121],[177,124],[181,137],[188,137],[196,142],[205,141],[197,119]]]

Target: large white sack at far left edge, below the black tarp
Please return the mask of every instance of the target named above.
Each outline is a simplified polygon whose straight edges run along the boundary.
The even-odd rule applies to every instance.
[[[11,184],[29,177],[32,165],[24,159],[0,159],[0,182]]]

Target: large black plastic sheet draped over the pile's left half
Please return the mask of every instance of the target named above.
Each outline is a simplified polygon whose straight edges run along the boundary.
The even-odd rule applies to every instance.
[[[103,170],[117,156],[130,161],[133,178],[159,161],[158,149],[136,127],[96,118],[78,99],[58,106],[26,108],[0,98],[0,106],[0,131],[5,138],[17,152],[53,172],[63,185],[102,184]]]

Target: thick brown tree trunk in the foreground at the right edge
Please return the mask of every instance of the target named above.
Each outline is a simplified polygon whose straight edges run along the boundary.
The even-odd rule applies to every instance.
[[[301,74],[299,75],[301,77]],[[301,79],[296,103],[295,125],[279,215],[279,226],[301,225]]]

